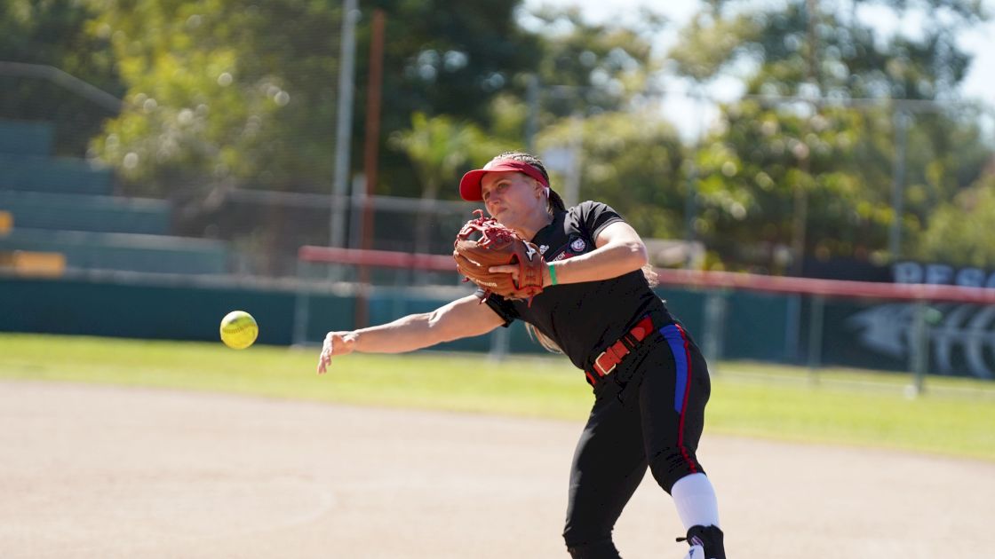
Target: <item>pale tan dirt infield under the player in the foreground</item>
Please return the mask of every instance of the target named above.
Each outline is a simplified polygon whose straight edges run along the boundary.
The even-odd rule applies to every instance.
[[[566,557],[579,424],[0,382],[0,557]],[[705,434],[731,559],[983,557],[995,464]],[[673,557],[646,480],[616,541]]]

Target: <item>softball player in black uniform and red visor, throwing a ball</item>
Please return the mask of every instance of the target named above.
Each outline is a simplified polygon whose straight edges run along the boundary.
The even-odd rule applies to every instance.
[[[410,351],[522,320],[583,370],[594,390],[570,473],[563,531],[570,555],[619,557],[612,529],[649,468],[685,525],[686,557],[725,559],[715,493],[696,455],[708,369],[653,292],[639,235],[605,204],[565,208],[542,162],[527,153],[502,153],[470,171],[460,194],[483,201],[500,224],[538,247],[548,263],[542,292],[526,302],[479,289],[433,312],[328,332],[318,373],[334,355]],[[492,271],[517,272],[501,268]]]

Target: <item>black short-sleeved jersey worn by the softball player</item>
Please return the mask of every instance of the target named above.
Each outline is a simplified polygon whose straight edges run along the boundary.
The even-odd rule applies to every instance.
[[[546,262],[569,259],[593,251],[598,234],[618,221],[624,220],[609,206],[583,202],[558,212],[532,243]],[[484,296],[483,289],[478,293]],[[531,306],[494,293],[487,303],[505,326],[515,318],[535,326],[583,370],[590,370],[594,358],[648,312],[670,320],[664,302],[640,270],[610,280],[549,286],[532,298]]]

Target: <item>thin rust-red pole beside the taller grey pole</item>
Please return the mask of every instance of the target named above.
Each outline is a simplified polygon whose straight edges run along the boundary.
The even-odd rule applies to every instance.
[[[363,152],[363,167],[366,173],[366,196],[363,207],[362,243],[363,250],[373,248],[373,205],[371,197],[376,187],[377,164],[380,146],[380,90],[383,84],[383,36],[384,13],[373,10],[370,29],[369,77],[366,84],[366,143]],[[355,327],[362,328],[369,322],[369,304],[366,300],[366,286],[369,283],[369,269],[359,267],[359,292],[356,296]]]

